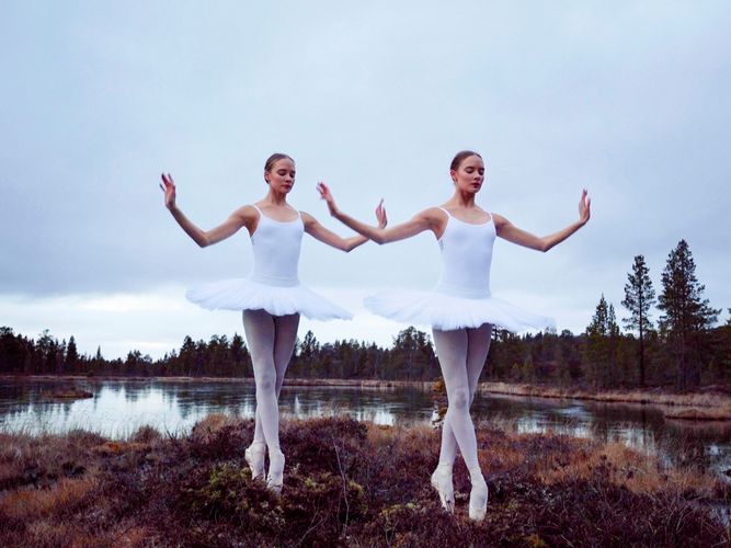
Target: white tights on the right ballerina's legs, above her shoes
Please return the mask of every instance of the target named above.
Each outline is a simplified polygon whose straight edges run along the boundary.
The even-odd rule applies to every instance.
[[[447,414],[442,429],[439,466],[452,467],[457,456],[457,446],[468,469],[479,467],[477,437],[469,408],[484,361],[490,351],[492,326],[450,331],[433,330],[434,346],[442,366],[447,388]]]

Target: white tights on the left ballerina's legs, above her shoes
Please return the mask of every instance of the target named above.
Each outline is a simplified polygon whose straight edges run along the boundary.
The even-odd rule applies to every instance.
[[[277,400],[284,374],[295,350],[299,315],[272,316],[266,310],[244,310],[243,330],[249,343],[256,384],[256,422],[253,443],[265,443],[270,456],[279,453]]]

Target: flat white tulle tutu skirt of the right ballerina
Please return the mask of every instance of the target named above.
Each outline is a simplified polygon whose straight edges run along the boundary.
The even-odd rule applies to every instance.
[[[478,328],[483,323],[509,331],[555,328],[551,318],[523,310],[495,297],[459,297],[437,292],[386,290],[366,297],[373,313],[442,331]]]

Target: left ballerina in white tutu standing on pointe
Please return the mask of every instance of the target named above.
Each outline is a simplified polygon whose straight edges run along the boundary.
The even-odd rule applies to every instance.
[[[244,458],[252,478],[263,479],[269,449],[266,486],[279,494],[285,459],[279,447],[277,400],[295,347],[299,316],[317,320],[352,317],[347,310],[299,283],[297,263],[302,232],[345,252],[368,239],[363,236],[341,238],[311,215],[287,203],[287,194],[295,184],[295,161],[289,156],[272,155],[264,165],[264,181],[269,191],[262,199],[239,207],[210,230],[202,230],[183,215],[175,204],[175,183],[170,174],[162,174],[160,187],[164,192],[165,207],[199,247],[218,243],[242,227],[251,237],[254,261],[247,278],[209,283],[191,289],[186,297],[207,309],[242,310],[256,386],[254,438]]]

